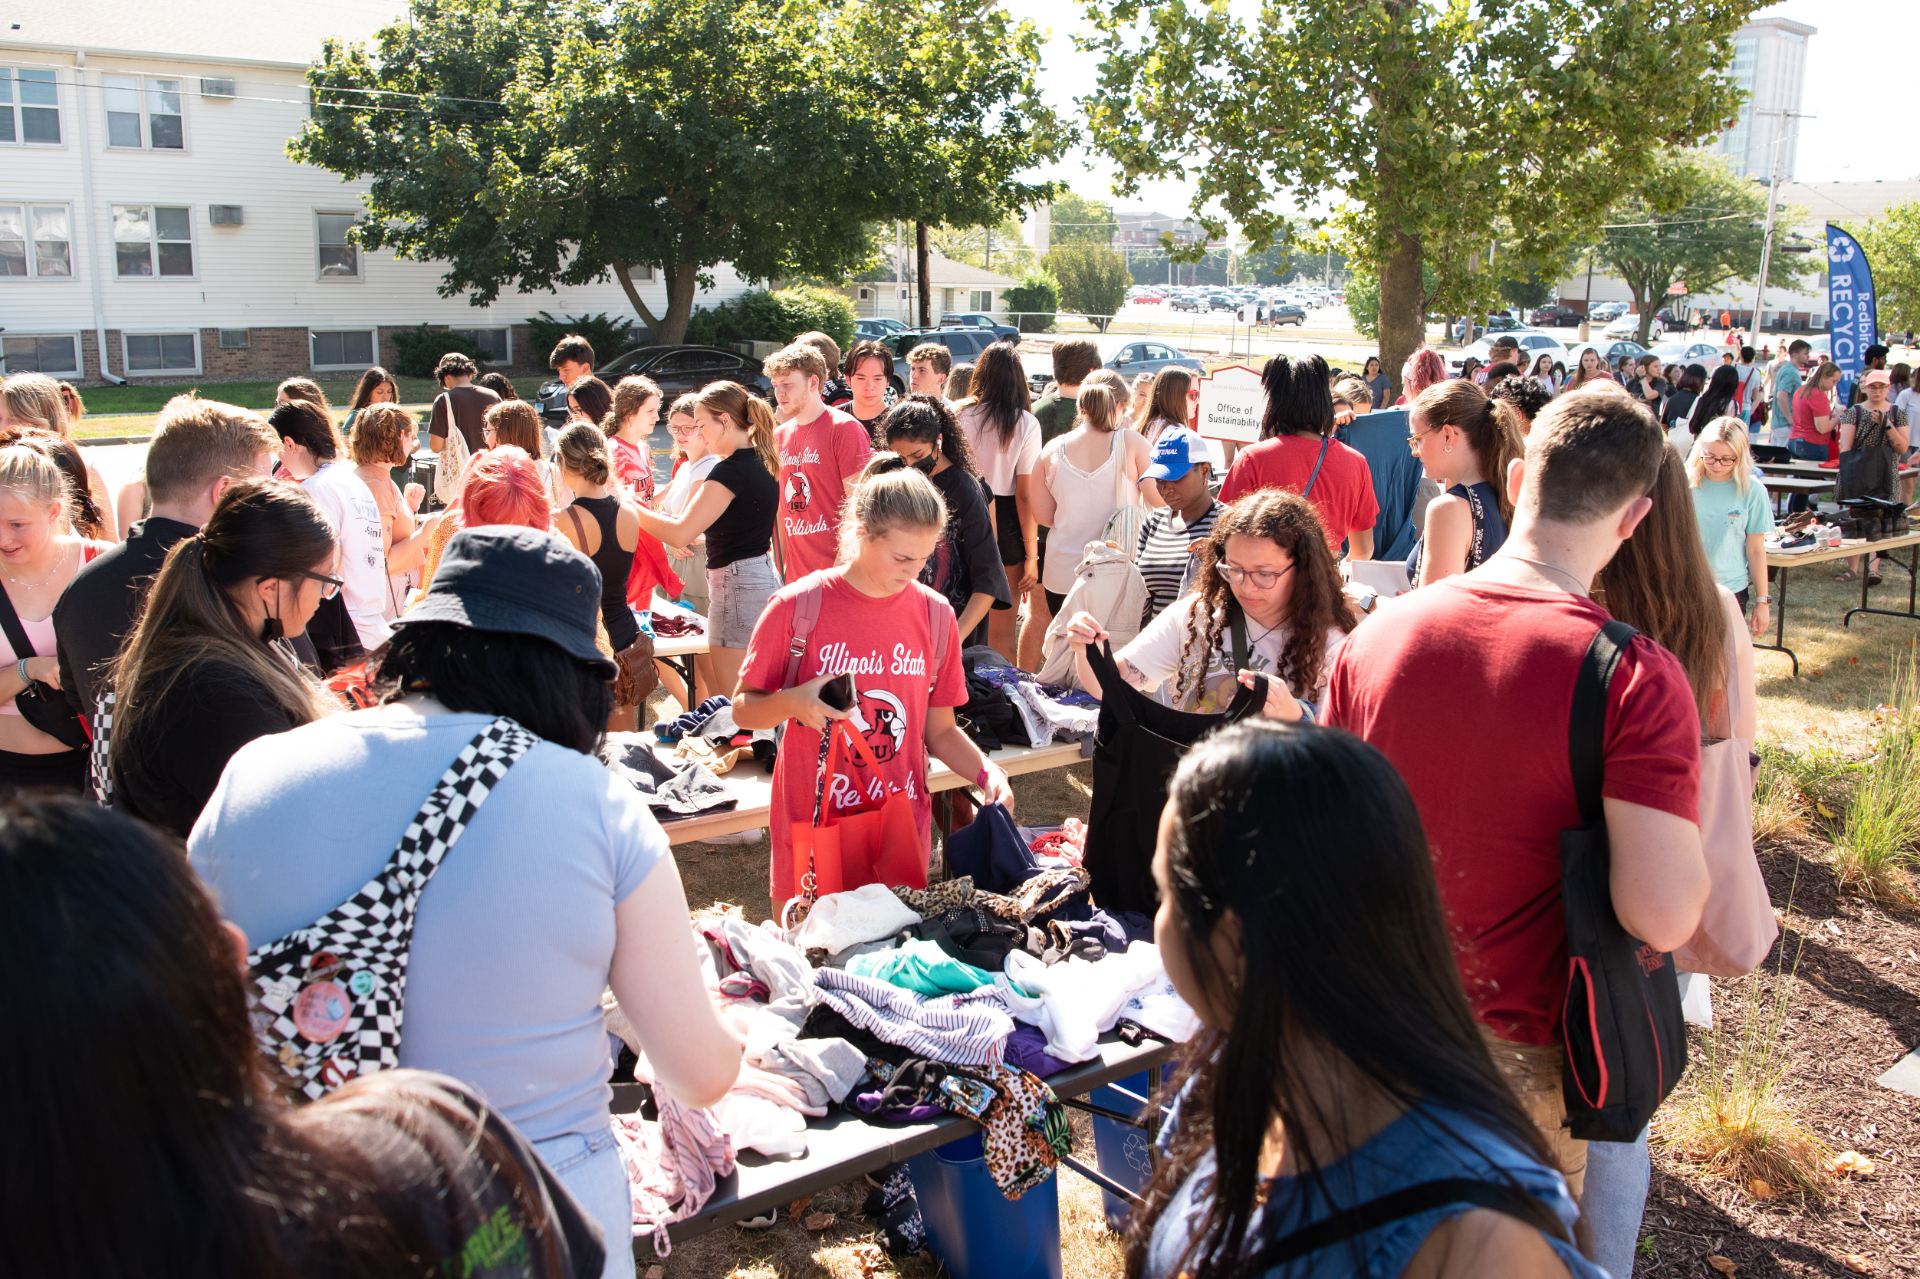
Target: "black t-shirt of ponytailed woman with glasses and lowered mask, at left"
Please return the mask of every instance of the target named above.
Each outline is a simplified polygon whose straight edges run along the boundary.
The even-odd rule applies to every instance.
[[[240,747],[294,728],[265,686],[223,661],[182,670],[142,718],[138,749],[113,762],[113,807],[180,839]]]

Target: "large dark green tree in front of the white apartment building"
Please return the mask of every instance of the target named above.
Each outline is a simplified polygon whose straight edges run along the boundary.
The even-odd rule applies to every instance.
[[[1037,63],[966,0],[415,0],[323,46],[288,154],[371,179],[359,242],[442,263],[445,296],[611,273],[678,342],[718,263],[845,278],[876,221],[1046,194],[1014,177],[1058,146]]]

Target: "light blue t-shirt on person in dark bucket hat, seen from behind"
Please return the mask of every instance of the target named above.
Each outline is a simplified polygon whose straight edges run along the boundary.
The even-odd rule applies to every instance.
[[[490,722],[409,699],[259,737],[227,764],[188,858],[250,945],[305,928],[380,872]],[[603,1131],[614,906],[666,855],[632,785],[536,743],[420,895],[399,1064],[472,1085],[530,1141]]]

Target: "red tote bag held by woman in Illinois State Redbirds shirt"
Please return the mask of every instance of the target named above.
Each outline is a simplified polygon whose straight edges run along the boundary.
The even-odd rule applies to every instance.
[[[874,751],[847,720],[833,720],[828,741],[820,787],[814,791],[814,820],[793,828],[787,881],[806,903],[868,883],[925,887],[927,851],[920,845],[920,828],[914,824],[914,801],[895,793],[856,812],[826,812],[826,780],[841,770],[849,751],[872,774],[879,774]]]

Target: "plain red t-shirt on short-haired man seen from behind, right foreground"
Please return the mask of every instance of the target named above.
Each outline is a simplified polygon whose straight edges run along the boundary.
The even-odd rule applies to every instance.
[[[1361,622],[1327,684],[1323,722],[1405,778],[1467,999],[1515,1043],[1561,1041],[1559,833],[1580,824],[1567,724],[1605,620],[1580,595],[1455,576]],[[1697,822],[1699,712],[1680,663],[1642,636],[1607,691],[1601,795]]]

